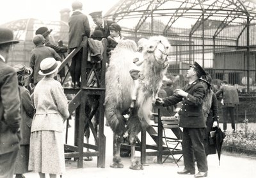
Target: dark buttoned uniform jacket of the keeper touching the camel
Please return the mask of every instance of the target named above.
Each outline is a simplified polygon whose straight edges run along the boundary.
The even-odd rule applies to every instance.
[[[163,98],[164,107],[175,105],[182,101],[182,107],[179,111],[179,126],[182,128],[206,128],[202,109],[205,96],[204,85],[199,80],[195,80],[192,84],[185,85],[182,90],[188,93],[187,97],[174,94],[168,98]]]

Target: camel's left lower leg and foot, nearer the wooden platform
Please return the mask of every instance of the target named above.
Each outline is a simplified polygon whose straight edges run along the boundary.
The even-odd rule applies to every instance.
[[[110,165],[111,168],[123,168],[124,165],[121,163],[121,158],[120,158],[120,148],[121,148],[121,143],[124,141],[123,136],[118,136],[114,135],[114,158],[113,158],[113,163]]]

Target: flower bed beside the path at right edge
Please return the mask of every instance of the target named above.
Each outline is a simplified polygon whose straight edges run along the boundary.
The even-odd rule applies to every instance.
[[[222,149],[228,152],[256,155],[256,130],[248,128],[248,119],[244,119],[241,130],[236,133],[226,133]]]

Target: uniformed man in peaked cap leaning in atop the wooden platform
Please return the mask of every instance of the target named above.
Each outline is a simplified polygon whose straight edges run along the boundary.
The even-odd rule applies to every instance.
[[[94,11],[89,14],[92,17],[94,24],[96,25],[95,30],[100,30],[103,33],[103,38],[107,38],[110,34],[109,26],[115,21],[113,20],[104,20],[102,17],[102,11]]]

